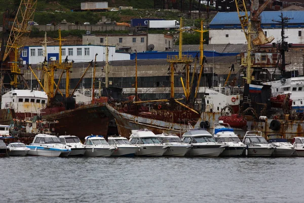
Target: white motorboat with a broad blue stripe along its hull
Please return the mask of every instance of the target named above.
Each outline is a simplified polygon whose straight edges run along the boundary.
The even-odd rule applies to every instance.
[[[56,136],[37,134],[30,145],[28,155],[35,156],[68,156],[71,149],[60,143]]]

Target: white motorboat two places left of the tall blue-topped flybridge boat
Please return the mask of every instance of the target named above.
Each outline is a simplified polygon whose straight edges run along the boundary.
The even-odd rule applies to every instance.
[[[175,134],[162,133],[156,136],[163,144],[170,145],[164,156],[184,156],[192,148],[190,144],[181,142],[181,139]]]

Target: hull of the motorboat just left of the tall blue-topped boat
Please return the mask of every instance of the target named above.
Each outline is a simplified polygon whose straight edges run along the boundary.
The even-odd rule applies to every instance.
[[[224,147],[220,147],[218,145],[194,145],[193,148],[186,153],[186,156],[218,157],[224,151],[224,149]]]

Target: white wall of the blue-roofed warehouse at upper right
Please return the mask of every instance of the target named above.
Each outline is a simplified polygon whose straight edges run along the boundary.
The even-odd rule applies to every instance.
[[[281,29],[265,29],[267,37],[274,36],[273,42],[281,39]],[[298,31],[301,31],[301,36],[298,36]],[[228,35],[226,37],[226,35]],[[304,44],[304,28],[288,28],[285,29],[285,39],[288,43]],[[209,30],[209,44],[246,44],[244,32],[241,29],[211,29]]]

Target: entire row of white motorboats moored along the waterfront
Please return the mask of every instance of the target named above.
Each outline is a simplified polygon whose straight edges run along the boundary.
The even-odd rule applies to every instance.
[[[132,130],[129,140],[92,135],[82,144],[76,136],[37,134],[30,145],[10,143],[7,148],[11,156],[304,156],[304,137],[294,138],[293,145],[279,135],[268,138],[247,131],[241,142],[229,124],[219,122],[213,135],[203,128],[187,129],[182,138],[140,129]]]

